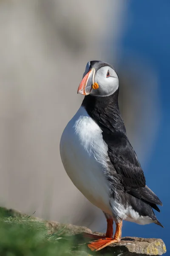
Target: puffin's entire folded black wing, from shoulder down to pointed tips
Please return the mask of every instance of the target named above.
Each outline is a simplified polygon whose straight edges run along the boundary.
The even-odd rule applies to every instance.
[[[159,211],[156,204],[162,205],[162,203],[153,191],[146,186],[144,172],[126,135],[102,133],[102,136],[108,145],[110,161],[120,175],[125,191],[149,203],[151,207]]]

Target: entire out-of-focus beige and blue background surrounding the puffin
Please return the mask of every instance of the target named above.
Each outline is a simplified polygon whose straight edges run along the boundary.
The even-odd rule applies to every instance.
[[[0,204],[41,218],[106,229],[71,183],[59,155],[90,60],[113,64],[127,136],[147,185],[164,204],[164,229],[124,222],[123,236],[170,229],[170,1],[0,1]],[[69,90],[68,90],[69,87]]]

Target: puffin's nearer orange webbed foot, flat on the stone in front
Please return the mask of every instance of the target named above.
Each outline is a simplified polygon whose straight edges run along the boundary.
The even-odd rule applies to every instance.
[[[106,246],[108,246],[110,244],[118,243],[119,241],[120,240],[113,239],[113,238],[99,239],[99,240],[93,241],[90,244],[88,244],[88,247],[92,251],[98,251],[98,250],[105,248]]]

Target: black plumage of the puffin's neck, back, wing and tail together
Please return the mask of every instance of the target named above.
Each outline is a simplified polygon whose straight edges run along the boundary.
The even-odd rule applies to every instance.
[[[82,106],[99,125],[103,140],[108,145],[110,161],[108,180],[110,183],[116,180],[119,200],[124,204],[130,204],[135,211],[139,212],[139,215],[150,216],[157,221],[152,208],[160,211],[157,205],[162,205],[162,203],[146,186],[144,172],[126,135],[125,125],[119,111],[118,94],[119,89],[111,96],[88,95],[85,96]],[[160,224],[159,221],[157,224]]]

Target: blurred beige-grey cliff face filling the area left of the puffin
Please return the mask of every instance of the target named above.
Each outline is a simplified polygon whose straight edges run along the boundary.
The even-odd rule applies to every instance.
[[[59,141],[82,102],[77,88],[87,61],[113,56],[108,27],[117,38],[122,5],[0,1],[1,205],[72,224],[98,223],[98,209],[62,166]]]

